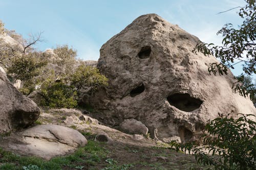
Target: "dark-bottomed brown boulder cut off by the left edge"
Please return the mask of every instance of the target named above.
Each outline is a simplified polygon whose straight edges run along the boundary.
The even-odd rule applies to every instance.
[[[36,104],[20,93],[0,71],[0,133],[26,128],[39,114]]]

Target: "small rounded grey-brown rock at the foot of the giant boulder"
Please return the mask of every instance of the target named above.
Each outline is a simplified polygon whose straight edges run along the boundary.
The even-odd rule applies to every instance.
[[[147,127],[142,124],[140,121],[131,118],[131,119],[125,119],[121,124],[120,128],[123,131],[127,131],[132,134],[143,134],[146,135],[148,132]]]

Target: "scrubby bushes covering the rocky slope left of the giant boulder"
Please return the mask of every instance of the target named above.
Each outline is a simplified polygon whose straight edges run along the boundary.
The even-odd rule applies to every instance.
[[[72,47],[60,45],[53,49],[53,53],[43,53],[33,48],[41,34],[25,40],[15,31],[5,30],[2,22],[0,31],[17,41],[17,44],[0,42],[0,66],[7,70],[11,81],[22,80],[20,92],[28,95],[36,90],[42,97],[38,104],[50,108],[74,108],[81,88],[90,88],[92,93],[99,86],[108,85],[108,79],[100,75],[97,68],[85,66],[76,59],[77,52]],[[51,66],[60,70],[55,72]]]

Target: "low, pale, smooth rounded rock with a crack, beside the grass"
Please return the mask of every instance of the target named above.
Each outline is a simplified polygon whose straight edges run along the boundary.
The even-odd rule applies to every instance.
[[[59,125],[37,125],[5,140],[9,141],[5,143],[9,151],[44,159],[66,155],[87,144],[87,139],[81,133]]]

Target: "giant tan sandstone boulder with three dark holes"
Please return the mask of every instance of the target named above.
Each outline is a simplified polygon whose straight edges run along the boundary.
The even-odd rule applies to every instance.
[[[102,45],[97,67],[109,86],[91,96],[99,121],[142,122],[153,137],[195,138],[218,113],[255,114],[249,99],[232,92],[233,75],[210,76],[213,56],[194,54],[198,38],[156,14],[142,15]]]

